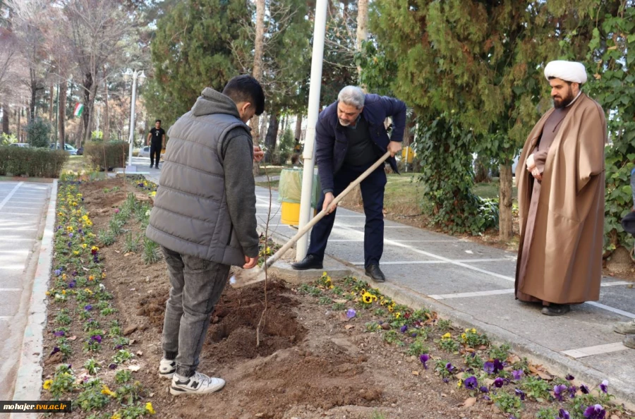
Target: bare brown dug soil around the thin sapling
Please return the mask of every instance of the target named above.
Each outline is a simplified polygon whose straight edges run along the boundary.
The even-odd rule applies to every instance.
[[[104,194],[103,189],[119,185],[121,181],[109,180],[81,187],[95,231],[107,224],[112,207],[126,195],[123,191]],[[126,228],[143,233],[132,219]],[[144,265],[140,254],[124,255],[122,247],[120,236],[114,245],[100,250],[107,268],[104,284],[119,310],[108,321],[118,318],[122,329],[136,327],[128,337],[134,339],[130,351],[137,356],[128,363],[140,367],[133,379],[146,389],[143,403],[152,402],[155,418],[369,419],[377,412],[391,419],[506,417],[483,400],[462,407],[468,398],[466,390],[457,389],[456,382],[442,382],[433,372],[433,360],[430,369],[423,370],[416,358],[382,341],[381,333],[365,332],[365,322],[373,320],[370,310],[347,320],[341,312],[332,312],[330,305],[319,305],[317,298],[275,281],[267,286],[260,346],[256,340],[265,308],[263,284],[242,289],[227,286],[212,313],[199,370],[224,378],[226,387],[207,396],[171,396],[169,381],[157,375],[169,292],[167,269],[163,261]],[[53,314],[49,312],[50,332]],[[71,328],[71,335],[83,336],[77,320]],[[53,339],[52,333],[47,334],[49,351]],[[113,353],[104,345],[95,358],[105,366]],[[66,363],[78,373],[89,357],[77,342]],[[447,359],[454,365],[461,363],[459,356]],[[49,360],[44,366],[45,379],[52,376],[56,364]],[[103,368],[98,376],[111,389],[119,387],[111,370]],[[103,413],[110,417],[118,408],[113,401]],[[522,418],[533,417],[534,411],[536,407],[527,408]],[[75,411],[64,418],[88,415]]]

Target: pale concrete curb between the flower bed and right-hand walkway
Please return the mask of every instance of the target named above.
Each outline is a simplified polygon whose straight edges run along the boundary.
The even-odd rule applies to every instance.
[[[286,243],[289,238],[281,233],[272,232],[270,234],[272,240],[282,245]],[[337,271],[329,271],[329,265],[341,267]],[[289,281],[287,278],[298,277],[298,271],[293,271],[288,264],[279,264],[277,266],[275,274],[279,279],[291,282],[291,284],[298,284],[302,282],[315,281],[320,274],[316,274],[316,270],[302,271],[305,274],[301,275],[302,281]],[[270,268],[273,270],[273,267]],[[342,269],[343,268],[343,269]],[[291,270],[291,272],[287,272]],[[344,276],[354,274],[358,278],[365,279],[372,284],[375,288],[379,289],[385,296],[389,296],[399,304],[407,305],[413,310],[418,310],[422,307],[428,307],[437,312],[441,317],[452,320],[452,322],[461,328],[476,328],[485,332],[492,341],[497,343],[508,343],[512,346],[512,350],[516,355],[526,357],[533,363],[542,364],[550,372],[563,376],[567,374],[574,375],[576,382],[588,383],[589,387],[593,389],[598,386],[604,379],[608,379],[611,384],[611,394],[615,396],[617,403],[624,403],[624,406],[629,410],[635,410],[635,382],[624,382],[617,377],[607,377],[603,372],[589,368],[582,363],[576,362],[567,356],[563,356],[560,353],[552,351],[549,348],[538,345],[528,339],[524,339],[522,336],[509,332],[501,327],[493,324],[482,322],[472,315],[465,312],[455,310],[454,308],[444,305],[433,298],[429,298],[425,294],[418,293],[411,289],[399,286],[391,282],[377,283],[365,276],[364,272],[358,267],[352,266],[349,262],[339,260],[336,257],[325,255],[325,269],[332,274],[339,274],[340,270],[346,272]],[[272,272],[274,273],[274,272]]]

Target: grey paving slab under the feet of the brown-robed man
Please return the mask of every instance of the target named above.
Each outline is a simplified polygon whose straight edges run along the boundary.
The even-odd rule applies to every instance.
[[[613,343],[619,339],[612,332],[612,324],[628,320],[588,304],[574,305],[564,316],[548,317],[540,313],[540,305],[521,303],[514,300],[513,294],[456,298],[440,303],[555,352]]]

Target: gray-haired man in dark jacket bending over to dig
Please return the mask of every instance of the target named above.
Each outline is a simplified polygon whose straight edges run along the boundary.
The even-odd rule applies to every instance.
[[[384,121],[392,116],[394,129],[389,138]],[[315,127],[317,168],[322,183],[322,197],[317,207],[329,213],[311,231],[310,245],[304,260],[292,267],[298,270],[322,269],[327,241],[335,222],[337,204],[333,200],[349,183],[389,152],[388,162],[397,172],[394,154],[401,150],[406,128],[406,104],[379,95],[365,95],[361,88],[346,86],[337,102],[329,105]],[[364,226],[364,267],[377,282],[386,277],[379,267],[384,251],[384,165],[361,181],[366,222]]]

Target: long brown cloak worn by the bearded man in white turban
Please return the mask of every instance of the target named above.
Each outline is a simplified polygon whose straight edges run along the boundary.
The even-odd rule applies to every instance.
[[[553,111],[533,127],[516,166],[521,231],[516,298],[526,294],[548,303],[583,303],[600,297],[606,119],[602,107],[584,94],[571,104],[547,154],[538,205],[530,212],[536,180],[526,161]],[[535,217],[533,237],[523,264],[530,217]]]

